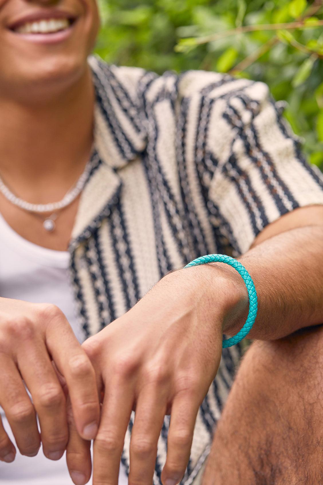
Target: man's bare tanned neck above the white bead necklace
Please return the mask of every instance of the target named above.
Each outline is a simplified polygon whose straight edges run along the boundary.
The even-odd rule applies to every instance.
[[[73,86],[44,103],[32,105],[0,96],[0,174],[4,182],[30,202],[59,200],[88,161],[93,111],[89,68]]]

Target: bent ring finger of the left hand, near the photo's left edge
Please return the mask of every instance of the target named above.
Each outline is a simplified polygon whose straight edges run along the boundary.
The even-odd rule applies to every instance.
[[[16,365],[0,354],[0,404],[21,454],[35,456],[40,447],[36,413]]]

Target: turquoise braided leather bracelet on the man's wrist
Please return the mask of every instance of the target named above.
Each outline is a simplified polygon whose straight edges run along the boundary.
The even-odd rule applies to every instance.
[[[257,292],[254,282],[252,281],[249,273],[242,266],[242,264],[239,263],[239,261],[237,261],[236,259],[230,258],[230,256],[226,256],[225,254],[208,254],[207,256],[201,256],[200,258],[194,259],[193,261],[188,263],[185,268],[213,262],[229,264],[230,266],[232,266],[232,268],[238,271],[238,273],[243,278],[244,284],[249,294],[249,313],[246,323],[243,325],[242,329],[240,330],[240,332],[237,333],[237,335],[231,337],[230,339],[223,340],[222,347],[225,349],[226,347],[231,347],[232,345],[239,343],[242,339],[244,339],[246,335],[248,335],[248,333],[252,329],[252,326],[257,316]]]

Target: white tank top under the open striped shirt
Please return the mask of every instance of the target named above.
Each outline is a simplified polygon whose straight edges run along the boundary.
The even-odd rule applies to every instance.
[[[59,307],[79,342],[84,332],[77,320],[74,297],[68,277],[69,253],[53,251],[26,241],[0,214],[0,297],[31,303],[52,303]],[[0,407],[3,426],[16,446],[15,438]],[[17,450],[13,463],[0,461],[1,485],[73,485],[65,455],[58,461],[48,460],[42,449],[37,456],[22,456]],[[89,482],[92,484],[92,478]],[[119,485],[128,484],[120,465]]]

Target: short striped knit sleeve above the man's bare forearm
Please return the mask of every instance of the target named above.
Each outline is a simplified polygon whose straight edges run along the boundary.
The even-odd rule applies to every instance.
[[[282,118],[282,103],[274,102],[266,84],[213,81],[198,94],[191,88],[195,162],[210,221],[242,254],[281,215],[323,204],[323,176],[304,159],[300,140]]]

